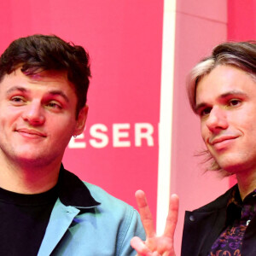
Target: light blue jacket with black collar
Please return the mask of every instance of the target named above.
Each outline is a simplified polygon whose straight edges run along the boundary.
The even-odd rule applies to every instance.
[[[133,236],[145,234],[138,212],[61,166],[55,202],[38,256],[136,255]]]

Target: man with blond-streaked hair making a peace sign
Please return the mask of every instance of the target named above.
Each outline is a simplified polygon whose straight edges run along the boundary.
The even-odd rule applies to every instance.
[[[236,175],[237,184],[215,201],[186,212],[182,256],[256,255],[256,42],[224,43],[189,74],[189,102],[201,119],[209,170]],[[175,255],[177,196],[164,236],[154,236],[145,196],[137,195],[144,228],[140,255]]]

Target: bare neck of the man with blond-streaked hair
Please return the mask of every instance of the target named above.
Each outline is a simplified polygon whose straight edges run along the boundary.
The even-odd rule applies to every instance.
[[[236,174],[241,200],[256,189],[256,172],[242,172]]]

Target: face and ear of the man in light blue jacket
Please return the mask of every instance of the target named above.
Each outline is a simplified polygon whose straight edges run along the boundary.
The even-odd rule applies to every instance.
[[[76,119],[77,96],[66,73],[26,76],[19,69],[0,83],[0,160],[61,162],[67,143],[84,131],[87,108]]]

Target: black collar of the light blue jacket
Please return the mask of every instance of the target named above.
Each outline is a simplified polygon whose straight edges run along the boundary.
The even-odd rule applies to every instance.
[[[61,165],[58,180],[59,198],[65,206],[78,208],[93,208],[100,205],[86,185],[72,172],[68,172]]]

